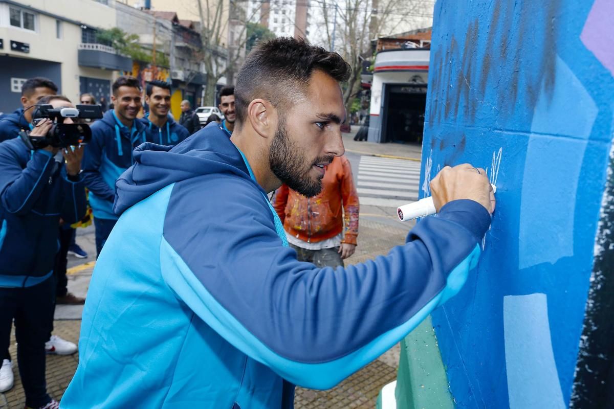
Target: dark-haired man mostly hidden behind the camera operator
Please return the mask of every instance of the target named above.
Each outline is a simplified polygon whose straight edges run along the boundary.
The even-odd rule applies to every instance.
[[[42,77],[29,78],[21,86],[21,107],[0,118],[0,142],[17,137],[22,129],[29,130],[34,108],[24,112],[24,108],[35,105],[42,97],[55,95],[58,87],[52,80]]]

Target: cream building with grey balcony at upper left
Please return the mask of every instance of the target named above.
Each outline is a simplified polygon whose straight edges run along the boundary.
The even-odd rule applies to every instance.
[[[115,26],[114,7],[103,3],[0,0],[0,94],[9,96],[0,99],[0,112],[19,107],[21,84],[37,76],[53,80],[73,102],[82,91],[109,95],[114,75],[132,61],[87,35],[89,28]]]

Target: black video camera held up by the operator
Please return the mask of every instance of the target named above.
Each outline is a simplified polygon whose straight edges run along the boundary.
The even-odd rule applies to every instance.
[[[53,125],[45,136],[31,136],[28,131],[21,131],[20,137],[31,150],[52,146],[66,148],[90,142],[91,129],[79,120],[99,119],[103,117],[100,105],[76,105],[76,108],[53,108],[53,105],[35,105],[32,123],[36,126],[41,120],[49,118]],[[75,123],[65,124],[64,118],[74,118]]]

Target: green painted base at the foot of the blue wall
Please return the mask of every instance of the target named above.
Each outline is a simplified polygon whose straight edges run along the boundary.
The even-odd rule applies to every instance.
[[[454,409],[430,315],[401,342],[395,404],[390,385],[379,394],[378,409]]]

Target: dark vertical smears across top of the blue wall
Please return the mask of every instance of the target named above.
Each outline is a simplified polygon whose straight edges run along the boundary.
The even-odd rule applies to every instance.
[[[448,123],[456,119],[459,112],[464,113],[465,121],[473,123],[476,112],[487,102],[484,99],[489,81],[495,78],[497,84],[491,88],[497,92],[497,113],[511,117],[519,104],[528,105],[523,110],[530,112],[537,104],[542,86],[551,99],[556,78],[557,12],[560,10],[561,0],[545,4],[530,0],[496,1],[488,23],[486,44],[480,44],[478,20],[467,26],[463,44],[452,36],[449,47],[440,47],[433,58],[435,70],[429,125],[432,127],[436,121]],[[516,21],[515,16],[518,16]],[[540,30],[536,27],[538,23],[543,24]],[[511,49],[508,46],[510,37],[515,38]],[[531,69],[524,69],[524,66]],[[522,102],[518,101],[519,86],[526,87],[526,98]],[[462,110],[461,104],[464,105]]]

